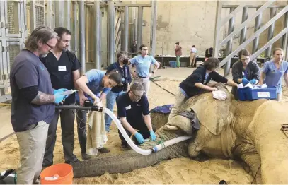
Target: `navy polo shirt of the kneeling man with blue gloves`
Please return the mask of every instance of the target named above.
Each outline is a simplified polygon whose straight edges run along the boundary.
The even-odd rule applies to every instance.
[[[143,116],[149,114],[149,102],[144,95],[138,102],[132,102],[128,93],[123,93],[117,99],[118,117],[126,117],[132,126],[143,122]]]

